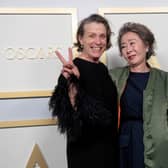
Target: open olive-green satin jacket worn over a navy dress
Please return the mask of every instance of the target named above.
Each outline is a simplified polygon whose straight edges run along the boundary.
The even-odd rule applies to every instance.
[[[129,67],[110,71],[118,90],[118,104],[129,76]],[[151,68],[143,91],[143,145],[145,168],[167,168],[168,161],[168,73]],[[121,114],[122,116],[122,109]],[[121,119],[122,117],[120,117]],[[122,121],[120,120],[120,127]],[[121,129],[121,128],[120,128]],[[123,137],[124,139],[124,137]],[[129,139],[125,137],[125,142]],[[137,150],[137,153],[139,151]]]

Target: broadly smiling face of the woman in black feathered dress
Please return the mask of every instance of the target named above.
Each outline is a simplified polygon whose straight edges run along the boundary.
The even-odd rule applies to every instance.
[[[84,35],[79,37],[83,45],[82,56],[91,62],[98,62],[107,45],[106,28],[102,23],[84,25]]]

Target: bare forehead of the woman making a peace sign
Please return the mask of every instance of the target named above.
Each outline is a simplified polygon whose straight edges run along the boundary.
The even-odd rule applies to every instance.
[[[84,33],[105,33],[106,27],[103,23],[91,22],[84,25]]]

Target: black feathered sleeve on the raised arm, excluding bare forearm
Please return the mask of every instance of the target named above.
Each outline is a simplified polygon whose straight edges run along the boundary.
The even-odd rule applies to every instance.
[[[77,89],[75,110],[68,96],[68,88],[72,83]],[[53,116],[58,118],[58,128],[61,133],[69,132],[74,136],[79,136],[85,124],[95,128],[97,126],[106,127],[112,122],[112,112],[102,101],[87,95],[75,76],[71,76],[69,80],[62,75],[59,77],[49,101],[49,107]]]

